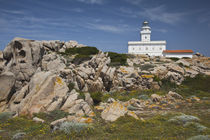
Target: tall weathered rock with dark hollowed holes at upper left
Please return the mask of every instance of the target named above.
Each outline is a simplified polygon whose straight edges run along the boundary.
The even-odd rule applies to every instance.
[[[29,81],[40,65],[44,48],[40,41],[15,38],[3,51],[5,71],[14,73],[16,80],[15,86],[20,89],[22,82]]]

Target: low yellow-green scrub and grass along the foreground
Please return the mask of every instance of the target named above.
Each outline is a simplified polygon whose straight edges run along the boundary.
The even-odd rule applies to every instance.
[[[93,124],[64,122],[58,130],[52,131],[51,117],[42,117],[45,123],[37,123],[24,116],[9,118],[0,123],[0,139],[11,139],[17,133],[25,134],[23,139],[173,139],[184,140],[210,134],[209,102],[198,102],[184,107],[181,112],[158,113],[136,120],[130,116],[105,122],[96,112]],[[129,110],[135,110],[133,106]],[[60,118],[61,112],[51,112]],[[185,115],[186,114],[186,115]],[[38,115],[41,117],[41,115]],[[58,117],[59,116],[59,117]],[[175,121],[174,121],[175,120]]]

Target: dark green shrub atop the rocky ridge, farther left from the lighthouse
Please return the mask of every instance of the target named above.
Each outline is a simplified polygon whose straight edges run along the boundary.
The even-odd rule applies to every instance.
[[[73,55],[73,54],[80,54],[80,55],[94,55],[97,54],[99,50],[96,47],[81,47],[81,48],[69,48],[65,50],[65,54]]]

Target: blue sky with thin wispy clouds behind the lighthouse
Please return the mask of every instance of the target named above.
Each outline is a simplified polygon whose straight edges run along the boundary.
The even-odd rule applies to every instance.
[[[0,0],[0,49],[23,37],[127,53],[144,20],[167,49],[210,56],[210,0]]]

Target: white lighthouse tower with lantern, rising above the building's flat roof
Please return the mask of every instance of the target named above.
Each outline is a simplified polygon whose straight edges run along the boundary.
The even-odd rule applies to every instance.
[[[143,22],[141,31],[140,31],[141,41],[148,42],[150,41],[151,36],[151,28],[149,27],[149,23],[147,21]]]

